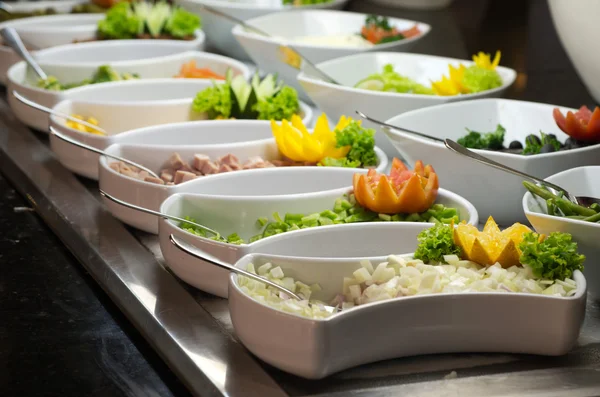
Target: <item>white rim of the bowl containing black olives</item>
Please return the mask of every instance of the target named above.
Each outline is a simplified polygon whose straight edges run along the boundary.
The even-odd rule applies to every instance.
[[[548,107],[559,108],[559,109],[573,111],[573,112],[577,111],[577,109],[567,108],[567,107],[559,106],[559,105],[553,105],[550,103],[521,101],[521,100],[517,100],[517,99],[506,99],[506,98],[478,98],[478,99],[473,99],[470,101],[457,101],[457,102],[452,102],[452,103],[443,103],[443,104],[437,104],[437,105],[433,105],[433,106],[427,106],[427,107],[420,108],[420,109],[409,110],[408,112],[404,112],[404,113],[398,114],[394,117],[390,117],[385,122],[388,124],[392,124],[398,118],[402,118],[404,116],[411,116],[411,115],[415,115],[415,114],[421,114],[421,113],[426,114],[427,112],[435,111],[436,109],[440,109],[442,106],[444,108],[455,108],[455,107],[461,107],[461,106],[469,107],[469,106],[474,106],[477,103],[486,103],[486,102],[489,102],[489,103],[509,102],[509,103],[518,103],[521,105],[527,104],[527,105],[535,105],[535,106],[548,106]],[[398,128],[400,128],[400,127],[398,127]],[[422,144],[422,145],[433,146],[436,148],[445,148],[445,145],[442,142],[437,142],[437,141],[433,141],[433,140],[430,140],[427,138],[422,138],[422,137],[419,137],[416,135],[412,135],[412,134],[403,132],[399,129],[398,130],[382,129],[382,131],[384,131],[384,133],[386,135],[401,136],[404,139],[409,139],[413,142],[418,142],[419,144]],[[536,154],[535,156],[526,156],[526,155],[517,154],[517,153],[500,152],[500,151],[485,150],[485,149],[469,149],[469,150],[471,150],[475,153],[481,154],[483,156],[487,156],[487,157],[492,156],[494,158],[506,158],[506,159],[517,159],[518,158],[522,162],[531,162],[531,161],[534,161],[535,159],[545,159],[548,157],[568,156],[570,153],[584,153],[587,151],[599,150],[600,147],[598,145],[600,145],[600,143],[585,146],[585,147],[579,147],[579,148],[575,148],[575,149],[569,149],[569,150],[565,150],[562,152],[539,153],[539,154]]]

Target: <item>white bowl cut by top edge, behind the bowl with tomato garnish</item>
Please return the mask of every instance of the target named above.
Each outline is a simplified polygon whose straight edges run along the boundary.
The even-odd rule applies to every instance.
[[[202,28],[208,35],[208,45],[219,52],[244,61],[250,60],[244,49],[231,34],[234,23],[205,11],[202,6],[212,7],[222,13],[246,21],[261,15],[291,9],[342,9],[348,0],[332,0],[329,3],[305,6],[283,5],[281,0],[175,0],[175,3],[202,18]]]

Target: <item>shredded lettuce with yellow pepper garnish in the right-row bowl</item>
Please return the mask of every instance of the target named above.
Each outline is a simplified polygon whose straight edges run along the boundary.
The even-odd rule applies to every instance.
[[[464,95],[491,90],[502,86],[502,77],[496,71],[500,63],[500,51],[494,60],[489,54],[480,52],[473,55],[474,65],[455,67],[448,65],[449,77],[443,76],[440,81],[425,86],[415,80],[398,74],[391,64],[385,65],[381,73],[372,74],[354,86],[364,90],[398,92],[420,95]]]

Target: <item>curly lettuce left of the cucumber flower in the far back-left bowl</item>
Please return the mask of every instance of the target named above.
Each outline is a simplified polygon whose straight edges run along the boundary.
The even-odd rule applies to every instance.
[[[131,9],[129,2],[111,7],[106,17],[98,22],[98,35],[106,39],[133,39],[143,24]]]

